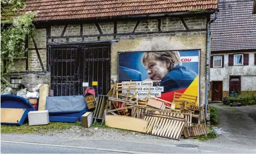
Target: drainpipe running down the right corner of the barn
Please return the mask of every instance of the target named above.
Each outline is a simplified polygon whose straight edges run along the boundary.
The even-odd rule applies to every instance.
[[[208,108],[208,89],[209,89],[209,53],[210,53],[210,24],[217,19],[218,12],[215,11],[214,19],[211,19],[207,24],[207,48],[206,48],[206,85],[205,85],[205,116],[207,116],[207,108]]]

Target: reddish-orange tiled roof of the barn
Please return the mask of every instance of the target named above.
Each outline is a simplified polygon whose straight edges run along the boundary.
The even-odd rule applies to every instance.
[[[35,20],[55,20],[210,9],[217,0],[28,0],[24,11],[37,12]]]

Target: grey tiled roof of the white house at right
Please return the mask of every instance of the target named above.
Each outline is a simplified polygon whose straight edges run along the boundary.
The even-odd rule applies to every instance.
[[[219,0],[217,20],[211,24],[211,51],[256,49],[256,14],[252,0]]]

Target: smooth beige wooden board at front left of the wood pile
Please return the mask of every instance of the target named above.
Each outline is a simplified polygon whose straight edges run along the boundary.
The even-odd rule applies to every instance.
[[[106,115],[106,125],[112,128],[126,129],[146,133],[148,121],[131,116]]]

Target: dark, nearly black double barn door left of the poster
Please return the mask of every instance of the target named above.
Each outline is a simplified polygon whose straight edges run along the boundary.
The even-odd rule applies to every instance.
[[[86,89],[83,85],[87,84],[96,94],[109,91],[109,43],[52,45],[50,50],[49,70],[54,96],[83,94]]]

